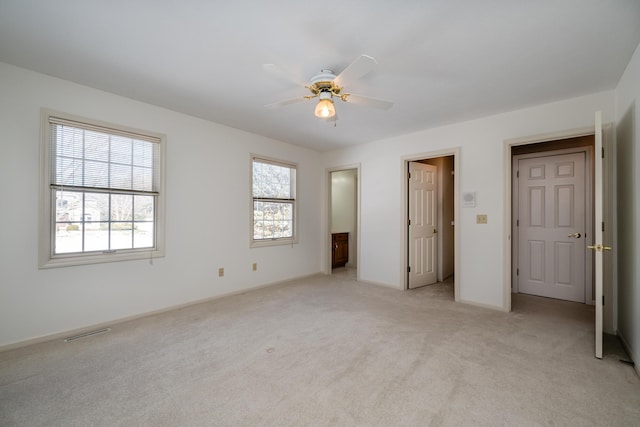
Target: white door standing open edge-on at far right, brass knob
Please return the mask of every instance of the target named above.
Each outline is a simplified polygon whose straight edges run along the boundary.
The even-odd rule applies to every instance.
[[[603,281],[604,281],[604,251],[611,250],[609,246],[603,244],[604,226],[604,206],[603,206],[603,157],[602,148],[602,112],[596,112],[595,117],[595,230],[594,244],[588,246],[595,251],[595,305],[596,305],[596,336],[595,336],[595,356],[602,359],[602,310],[603,310]]]

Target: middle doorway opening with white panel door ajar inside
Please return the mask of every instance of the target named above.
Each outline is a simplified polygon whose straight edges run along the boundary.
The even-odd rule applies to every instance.
[[[459,301],[458,150],[403,159],[405,289],[439,286]]]

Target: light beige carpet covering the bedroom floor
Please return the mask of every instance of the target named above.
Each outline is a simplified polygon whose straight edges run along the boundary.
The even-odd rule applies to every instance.
[[[616,340],[593,357],[593,307],[336,273],[0,353],[0,425],[640,425]]]

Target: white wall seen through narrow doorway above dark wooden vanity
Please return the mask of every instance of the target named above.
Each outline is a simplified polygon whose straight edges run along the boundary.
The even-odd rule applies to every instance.
[[[331,232],[349,233],[350,267],[357,266],[358,171],[331,172]]]

